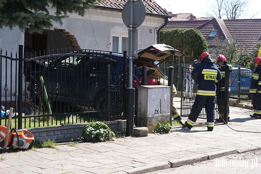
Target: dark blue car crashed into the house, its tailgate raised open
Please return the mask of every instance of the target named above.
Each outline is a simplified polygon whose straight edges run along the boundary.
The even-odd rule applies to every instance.
[[[28,89],[31,100],[39,98],[40,95],[35,95],[42,91],[38,76],[43,76],[49,100],[88,106],[96,111],[104,110],[107,91],[105,82],[108,79],[106,65],[110,65],[111,90],[122,91],[122,87],[119,86],[122,85],[124,74],[123,53],[82,49],[61,55],[46,56],[40,63],[41,71],[30,70],[32,72],[28,73],[27,81],[30,82]],[[133,60],[133,87],[139,86],[142,81],[142,66],[146,66],[148,78],[167,79],[168,77],[154,62],[170,55],[184,54],[164,44],[139,50],[138,58]],[[126,61],[128,62],[128,58]],[[115,100],[115,96],[117,102],[122,100],[122,94],[114,92],[111,98]],[[113,103],[115,101],[112,101]]]

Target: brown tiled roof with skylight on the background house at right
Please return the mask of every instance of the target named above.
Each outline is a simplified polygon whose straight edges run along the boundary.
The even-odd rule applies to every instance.
[[[261,19],[230,19],[195,21],[169,21],[163,29],[194,28],[199,29],[209,47],[214,47],[220,40],[237,39],[249,52],[253,52],[256,42],[261,41]],[[208,37],[212,30],[218,30],[215,37]]]

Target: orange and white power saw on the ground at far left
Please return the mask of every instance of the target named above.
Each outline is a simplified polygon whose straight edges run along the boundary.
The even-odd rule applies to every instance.
[[[6,138],[6,127],[0,126],[0,147],[3,148]],[[7,140],[7,147],[19,149],[31,149],[34,145],[35,138],[31,132],[21,130],[17,132],[16,129],[9,131]]]

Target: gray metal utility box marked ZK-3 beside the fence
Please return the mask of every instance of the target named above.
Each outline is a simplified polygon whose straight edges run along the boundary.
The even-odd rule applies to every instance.
[[[148,127],[148,133],[170,119],[170,86],[138,86],[138,126]]]

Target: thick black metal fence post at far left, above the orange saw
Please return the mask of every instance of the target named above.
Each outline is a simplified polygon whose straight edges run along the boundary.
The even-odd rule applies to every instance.
[[[23,45],[19,45],[18,52],[18,129],[22,129],[22,97],[23,97]]]

